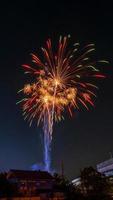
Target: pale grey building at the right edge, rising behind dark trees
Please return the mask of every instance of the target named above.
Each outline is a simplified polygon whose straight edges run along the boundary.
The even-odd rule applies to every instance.
[[[97,165],[97,171],[105,176],[113,176],[113,158],[99,163]]]

